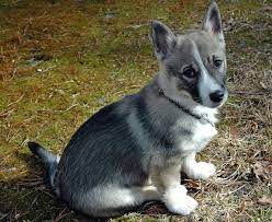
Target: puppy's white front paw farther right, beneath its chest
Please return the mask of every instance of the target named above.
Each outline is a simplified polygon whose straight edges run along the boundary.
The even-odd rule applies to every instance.
[[[216,168],[212,163],[199,162],[193,167],[190,167],[185,173],[190,178],[193,179],[207,179],[215,175]]]

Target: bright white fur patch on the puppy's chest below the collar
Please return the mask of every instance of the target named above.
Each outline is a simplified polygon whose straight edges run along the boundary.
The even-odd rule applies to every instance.
[[[216,136],[217,130],[211,124],[195,122],[191,126],[191,133],[180,135],[179,148],[182,151],[202,151],[207,143]]]

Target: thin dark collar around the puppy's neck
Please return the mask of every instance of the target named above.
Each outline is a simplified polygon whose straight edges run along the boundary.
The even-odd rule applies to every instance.
[[[181,109],[183,113],[196,118],[201,124],[207,122],[209,125],[212,125],[212,127],[215,127],[214,122],[211,121],[205,115],[197,115],[194,114],[192,110],[190,110],[189,108],[182,106],[180,103],[173,101],[172,98],[168,97],[165,92],[162,91],[162,89],[159,89],[159,95],[163,96],[165,98],[167,98],[170,103],[172,103],[174,106],[177,106],[179,109]]]

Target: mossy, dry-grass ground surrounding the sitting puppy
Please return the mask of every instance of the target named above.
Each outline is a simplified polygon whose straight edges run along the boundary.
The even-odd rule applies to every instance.
[[[150,21],[197,27],[208,2],[0,1],[0,221],[81,220],[44,184],[25,141],[61,153],[89,116],[158,71]],[[151,203],[112,221],[272,221],[272,4],[217,2],[230,93],[218,137],[199,155],[217,174],[182,179],[200,202],[189,217]]]

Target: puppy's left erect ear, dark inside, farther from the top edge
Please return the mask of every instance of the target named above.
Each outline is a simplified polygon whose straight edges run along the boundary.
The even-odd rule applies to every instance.
[[[158,21],[151,22],[151,38],[158,59],[163,60],[173,49],[177,38],[171,30]]]

